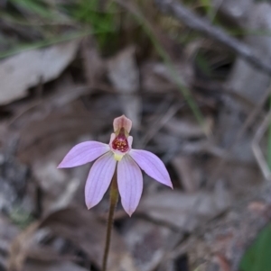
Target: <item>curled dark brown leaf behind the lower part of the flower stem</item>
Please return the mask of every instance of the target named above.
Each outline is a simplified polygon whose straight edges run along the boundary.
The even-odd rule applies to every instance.
[[[48,216],[42,222],[42,227],[48,227],[54,234],[70,239],[97,266],[101,266],[106,225],[99,222],[92,212],[79,208],[64,209]],[[114,229],[112,230],[107,270],[135,271],[133,259],[125,243],[118,236],[117,232]]]

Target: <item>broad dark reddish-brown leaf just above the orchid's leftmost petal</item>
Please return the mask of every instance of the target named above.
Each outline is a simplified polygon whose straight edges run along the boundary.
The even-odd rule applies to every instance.
[[[69,109],[69,106],[67,107]],[[88,113],[70,110],[66,113],[51,113],[45,120],[29,123],[20,131],[20,157],[23,157],[23,161],[33,161],[41,158],[41,155],[43,158],[45,154],[59,147],[60,142],[74,142],[79,136],[89,134],[89,131],[99,131],[104,123],[91,122],[89,125],[91,117]]]

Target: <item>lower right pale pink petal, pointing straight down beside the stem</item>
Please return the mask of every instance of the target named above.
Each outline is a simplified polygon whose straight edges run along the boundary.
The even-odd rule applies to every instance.
[[[122,206],[131,216],[135,212],[142,194],[143,177],[140,168],[128,155],[118,162],[117,185]]]

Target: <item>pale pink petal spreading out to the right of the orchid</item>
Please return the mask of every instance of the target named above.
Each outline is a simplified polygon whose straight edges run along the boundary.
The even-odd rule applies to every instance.
[[[148,176],[173,188],[171,178],[160,158],[157,158],[152,152],[143,149],[131,149],[129,155]]]

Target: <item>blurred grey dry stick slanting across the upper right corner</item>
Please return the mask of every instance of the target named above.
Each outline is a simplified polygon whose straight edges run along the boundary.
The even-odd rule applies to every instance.
[[[192,30],[201,32],[215,41],[220,41],[256,68],[259,68],[266,72],[266,74],[271,75],[271,65],[260,59],[256,52],[248,45],[230,37],[219,27],[213,26],[209,21],[192,13],[192,11],[187,9],[180,2],[175,0],[155,0],[155,3],[165,14],[171,14],[174,18],[182,21],[182,23],[190,27]]]

